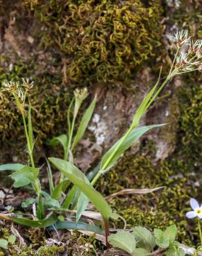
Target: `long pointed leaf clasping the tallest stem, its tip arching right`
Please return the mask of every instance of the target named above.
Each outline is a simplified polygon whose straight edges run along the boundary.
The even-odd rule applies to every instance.
[[[108,162],[108,159],[111,157],[111,155],[113,154],[113,151],[116,149],[116,147],[118,147],[120,141],[122,140],[122,138],[120,138],[109,150],[106,154],[104,154],[104,156],[102,157],[102,161],[101,161],[101,166],[100,166],[100,170],[107,170],[109,168],[111,168],[117,161],[118,158],[120,158],[120,156],[129,148],[131,147],[131,145],[133,145],[141,136],[143,136],[143,134],[145,134],[146,131],[149,131],[150,129],[156,128],[156,127],[162,127],[165,124],[161,124],[161,125],[147,125],[147,126],[143,126],[143,127],[138,127],[135,128],[131,131],[131,133],[129,134],[129,136],[127,136],[127,138],[125,139],[125,141],[122,143],[122,145],[120,145],[120,147],[118,148],[116,154],[113,156],[113,158],[111,158],[111,161],[106,165],[106,163]]]

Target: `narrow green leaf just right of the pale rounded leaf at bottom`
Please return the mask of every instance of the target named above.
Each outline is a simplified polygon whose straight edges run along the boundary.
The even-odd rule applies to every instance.
[[[140,239],[142,239],[145,244],[149,245],[150,249],[154,248],[156,245],[155,238],[147,228],[138,226],[134,228],[134,232],[136,232],[138,237],[140,237]]]

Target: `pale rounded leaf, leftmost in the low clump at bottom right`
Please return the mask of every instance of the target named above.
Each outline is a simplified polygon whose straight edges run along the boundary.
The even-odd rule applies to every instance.
[[[108,241],[112,246],[125,250],[129,254],[132,254],[136,248],[136,239],[134,235],[124,230],[109,235]]]

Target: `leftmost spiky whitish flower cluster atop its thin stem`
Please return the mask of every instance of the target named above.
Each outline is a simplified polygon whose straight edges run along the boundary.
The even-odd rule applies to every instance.
[[[22,78],[22,83],[15,81],[4,81],[2,83],[3,91],[8,91],[13,95],[16,95],[21,102],[24,102],[26,93],[33,88],[33,82],[30,82],[28,78]]]

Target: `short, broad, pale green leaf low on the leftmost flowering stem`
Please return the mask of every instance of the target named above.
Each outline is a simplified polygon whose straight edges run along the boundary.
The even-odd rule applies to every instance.
[[[10,176],[12,179],[15,180],[13,186],[15,188],[19,188],[30,183],[35,184],[38,174],[39,168],[24,165],[24,167],[22,167],[21,170],[13,172]]]

